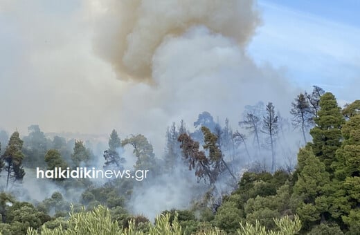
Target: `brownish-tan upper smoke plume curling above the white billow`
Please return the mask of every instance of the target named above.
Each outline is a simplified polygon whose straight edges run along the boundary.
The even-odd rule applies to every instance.
[[[101,4],[101,3],[100,3]],[[245,46],[260,22],[252,0],[124,0],[102,5],[96,52],[119,79],[152,79],[152,59],[168,36],[205,26]]]

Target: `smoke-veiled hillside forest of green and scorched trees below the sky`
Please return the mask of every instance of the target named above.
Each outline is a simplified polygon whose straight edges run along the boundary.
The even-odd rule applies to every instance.
[[[60,136],[51,140],[37,125],[23,138],[18,131],[10,138],[1,131],[0,232],[359,234],[360,101],[341,109],[332,93],[314,86],[294,98],[289,120],[284,117],[275,104],[260,102],[245,108],[239,129],[233,130],[227,119],[222,126],[210,113],[200,113],[191,133],[183,121],[168,128],[162,158],[141,134],[120,140],[112,131],[99,156],[90,147],[95,144]],[[287,148],[291,133],[300,136],[296,162],[291,162],[296,153]],[[96,182],[36,179],[34,173],[36,167],[122,170],[129,164],[148,170],[149,178]],[[43,184],[53,191],[38,200],[30,188]],[[155,218],[147,216],[151,207],[134,210],[150,195],[134,200],[141,190],[153,189],[156,198],[168,190],[159,186],[167,184],[179,191],[164,192],[163,204],[183,194],[187,206],[177,208],[175,202]]]

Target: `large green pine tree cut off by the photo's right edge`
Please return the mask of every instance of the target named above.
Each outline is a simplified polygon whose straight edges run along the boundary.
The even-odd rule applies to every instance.
[[[332,163],[334,179],[332,193],[328,195],[330,212],[333,218],[348,225],[350,231],[359,232],[360,115],[351,115],[341,132],[344,140],[336,151],[336,161]]]

